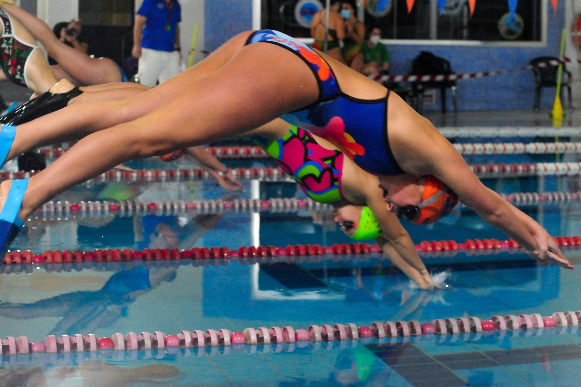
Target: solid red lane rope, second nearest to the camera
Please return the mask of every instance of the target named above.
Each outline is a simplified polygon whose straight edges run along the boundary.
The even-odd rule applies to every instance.
[[[581,236],[555,236],[553,238],[559,246],[581,246]],[[458,250],[495,250],[518,249],[521,245],[508,239],[500,241],[498,239],[468,239],[464,243],[456,241],[423,241],[415,246],[419,252],[454,252]],[[6,253],[3,263],[5,264],[39,264],[39,263],[81,263],[84,261],[94,262],[128,262],[134,260],[144,261],[169,261],[182,259],[231,259],[248,257],[278,257],[278,256],[322,256],[322,255],[360,255],[368,253],[378,253],[381,249],[377,245],[368,243],[335,243],[332,246],[321,245],[287,245],[277,246],[241,246],[237,250],[230,250],[227,247],[203,247],[189,250],[173,249],[106,249],[84,252],[82,250],[46,250],[44,253],[35,254],[30,250],[20,252],[12,250]]]

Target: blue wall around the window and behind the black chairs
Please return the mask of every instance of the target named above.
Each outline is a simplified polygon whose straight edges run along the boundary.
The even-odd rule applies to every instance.
[[[252,28],[252,1],[229,0],[205,2],[205,47],[213,51],[233,35]],[[526,66],[536,56],[558,56],[561,30],[565,24],[565,2],[558,2],[553,15],[548,6],[548,40],[546,47],[485,47],[437,45],[389,45],[392,74],[407,74],[411,61],[420,51],[431,51],[450,60],[456,73],[512,69]],[[458,109],[532,109],[535,82],[531,71],[458,81]],[[436,93],[439,98],[439,92]],[[450,93],[447,93],[450,99]],[[542,107],[553,105],[554,92],[544,89]],[[451,107],[451,101],[448,105]],[[425,106],[439,109],[440,103]]]

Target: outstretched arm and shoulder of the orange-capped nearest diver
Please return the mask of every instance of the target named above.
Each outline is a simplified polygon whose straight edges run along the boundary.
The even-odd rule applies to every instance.
[[[411,110],[410,107],[408,109]],[[552,260],[565,268],[575,268],[553,246],[550,235],[544,229],[540,231],[540,225],[534,221],[533,224],[530,218],[517,216],[506,200],[478,180],[460,153],[430,121],[415,112],[403,112],[394,116],[388,122],[388,127],[394,156],[406,173],[439,178],[487,223],[520,243],[529,256],[538,260]],[[409,135],[410,128],[414,130],[413,136]]]

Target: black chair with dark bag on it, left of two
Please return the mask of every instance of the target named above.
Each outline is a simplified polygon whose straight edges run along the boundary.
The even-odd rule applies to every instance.
[[[412,75],[449,75],[454,74],[450,67],[450,62],[444,58],[433,55],[428,51],[422,51],[411,63]],[[412,92],[417,96],[418,112],[422,110],[422,99],[425,89],[440,89],[440,99],[442,100],[442,113],[446,113],[446,89],[452,91],[452,102],[454,104],[454,113],[458,112],[458,101],[456,98],[456,80],[451,81],[428,81],[414,82]]]

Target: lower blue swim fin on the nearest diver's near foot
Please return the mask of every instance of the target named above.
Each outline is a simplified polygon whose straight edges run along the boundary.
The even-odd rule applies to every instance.
[[[3,261],[6,251],[24,226],[18,217],[28,179],[13,180],[6,202],[0,211],[0,260]]]

